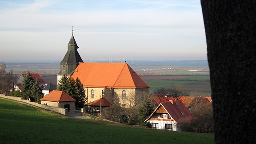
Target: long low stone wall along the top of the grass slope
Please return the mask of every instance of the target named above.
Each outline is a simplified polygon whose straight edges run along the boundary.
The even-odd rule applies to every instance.
[[[66,109],[65,108],[57,108],[57,107],[52,107],[52,106],[49,106],[49,105],[38,104],[36,102],[30,102],[29,100],[21,100],[21,97],[15,97],[15,96],[5,96],[5,95],[0,94],[0,97],[5,98],[5,99],[20,101],[20,102],[25,103],[25,104],[31,104],[31,105],[34,105],[36,107],[48,109],[50,111],[57,112],[57,113],[60,113],[62,115],[65,115],[65,116],[68,115],[68,108],[66,108]]]

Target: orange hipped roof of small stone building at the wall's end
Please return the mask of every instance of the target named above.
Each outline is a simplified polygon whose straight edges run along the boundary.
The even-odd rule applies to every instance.
[[[76,101],[66,92],[53,90],[48,95],[44,96],[40,100],[45,101],[55,101],[55,102],[64,102],[64,101]]]

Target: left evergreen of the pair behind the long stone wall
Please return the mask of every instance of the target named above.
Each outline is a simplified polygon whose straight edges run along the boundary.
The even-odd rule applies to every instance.
[[[34,79],[32,78],[30,72],[28,71],[22,81],[22,90],[21,91],[22,91],[23,99],[30,98],[31,89],[32,89],[33,84],[34,84]]]

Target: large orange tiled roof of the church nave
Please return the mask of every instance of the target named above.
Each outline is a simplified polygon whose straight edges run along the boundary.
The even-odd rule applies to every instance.
[[[126,63],[80,63],[72,77],[88,88],[149,88]]]

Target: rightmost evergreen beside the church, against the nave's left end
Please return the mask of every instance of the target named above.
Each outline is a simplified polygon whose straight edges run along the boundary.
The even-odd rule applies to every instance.
[[[84,103],[86,102],[86,95],[83,84],[81,81],[76,78],[76,108],[83,108]]]

